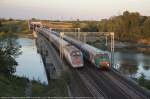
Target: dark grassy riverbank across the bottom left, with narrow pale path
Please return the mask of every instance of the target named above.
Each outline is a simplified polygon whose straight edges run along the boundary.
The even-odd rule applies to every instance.
[[[68,97],[66,81],[49,81],[49,85],[26,77],[0,75],[0,97]]]

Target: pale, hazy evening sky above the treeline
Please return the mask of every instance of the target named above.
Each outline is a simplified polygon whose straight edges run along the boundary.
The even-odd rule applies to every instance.
[[[0,0],[0,18],[100,20],[126,10],[150,16],[150,0]]]

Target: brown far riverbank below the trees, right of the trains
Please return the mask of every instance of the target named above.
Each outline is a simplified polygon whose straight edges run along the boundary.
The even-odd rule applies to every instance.
[[[100,42],[99,40],[88,41],[87,43],[102,50],[110,50],[110,42],[107,47],[105,42]],[[115,52],[150,54],[150,45],[144,43],[115,41],[114,48]]]

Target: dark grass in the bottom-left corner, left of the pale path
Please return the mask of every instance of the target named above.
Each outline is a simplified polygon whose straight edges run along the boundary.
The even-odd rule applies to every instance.
[[[27,79],[17,76],[6,77],[0,75],[0,96],[25,96],[25,86]]]

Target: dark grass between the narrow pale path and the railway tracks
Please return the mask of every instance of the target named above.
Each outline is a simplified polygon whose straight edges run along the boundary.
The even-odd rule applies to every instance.
[[[32,95],[40,97],[68,97],[69,75],[64,72],[59,79],[49,80],[49,85],[33,82]]]

